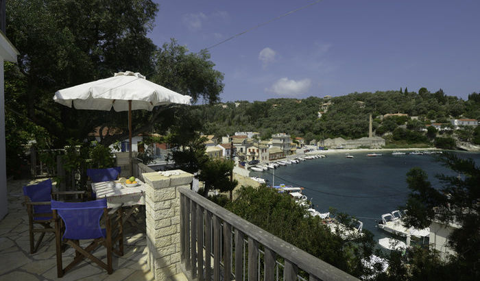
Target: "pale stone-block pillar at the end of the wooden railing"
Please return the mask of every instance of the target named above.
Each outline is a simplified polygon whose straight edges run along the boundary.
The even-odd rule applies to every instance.
[[[145,209],[148,264],[155,280],[167,280],[180,270],[180,193],[193,175],[181,170],[143,173],[147,185]]]

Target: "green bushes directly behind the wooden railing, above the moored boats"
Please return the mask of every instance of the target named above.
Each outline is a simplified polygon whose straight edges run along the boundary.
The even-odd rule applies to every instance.
[[[272,188],[242,187],[237,195],[226,206],[236,215],[353,276],[368,272],[361,259],[373,253],[370,232],[359,239],[344,241],[331,233],[320,217],[307,215],[289,195]]]

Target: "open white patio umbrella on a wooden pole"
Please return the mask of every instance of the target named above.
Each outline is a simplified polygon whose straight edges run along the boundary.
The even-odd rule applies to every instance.
[[[190,104],[191,97],[180,95],[163,86],[149,82],[145,76],[131,71],[115,73],[101,79],[58,90],[53,100],[69,108],[84,110],[128,110],[130,174],[132,174],[132,110],[152,111],[154,106],[169,103]]]

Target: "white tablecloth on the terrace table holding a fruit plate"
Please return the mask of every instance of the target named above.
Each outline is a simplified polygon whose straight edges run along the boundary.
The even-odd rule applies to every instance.
[[[92,189],[97,199],[107,197],[108,208],[145,205],[145,183],[136,181],[140,185],[135,187],[127,187],[119,182],[93,182]]]

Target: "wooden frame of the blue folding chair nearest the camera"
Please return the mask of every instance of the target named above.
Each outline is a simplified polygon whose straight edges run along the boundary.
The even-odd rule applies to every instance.
[[[110,217],[117,213],[116,217]],[[113,219],[113,223],[111,221]],[[55,239],[56,239],[56,256],[57,256],[57,276],[58,278],[62,278],[67,271],[73,269],[75,265],[79,262],[84,260],[84,258],[88,258],[95,262],[97,265],[106,269],[108,274],[113,273],[112,268],[112,252],[123,256],[123,221],[122,221],[122,210],[121,208],[117,208],[117,210],[110,210],[108,211],[107,208],[104,208],[104,221],[106,227],[106,237],[100,237],[97,239],[93,239],[93,241],[85,248],[80,247],[80,241],[72,240],[72,239],[63,239],[62,241],[62,234],[64,232],[63,227],[63,220],[58,215],[57,210],[53,210],[53,221],[55,221]],[[114,228],[116,232],[112,235],[112,224],[116,227]],[[115,237],[115,238],[112,238]],[[118,242],[118,249],[115,249],[113,245]],[[75,258],[72,262],[67,265],[67,267],[63,268],[62,265],[62,248],[64,245],[69,245],[75,249]],[[104,245],[107,249],[107,262],[101,261],[96,256],[93,256],[92,252],[97,249],[97,247]]]

